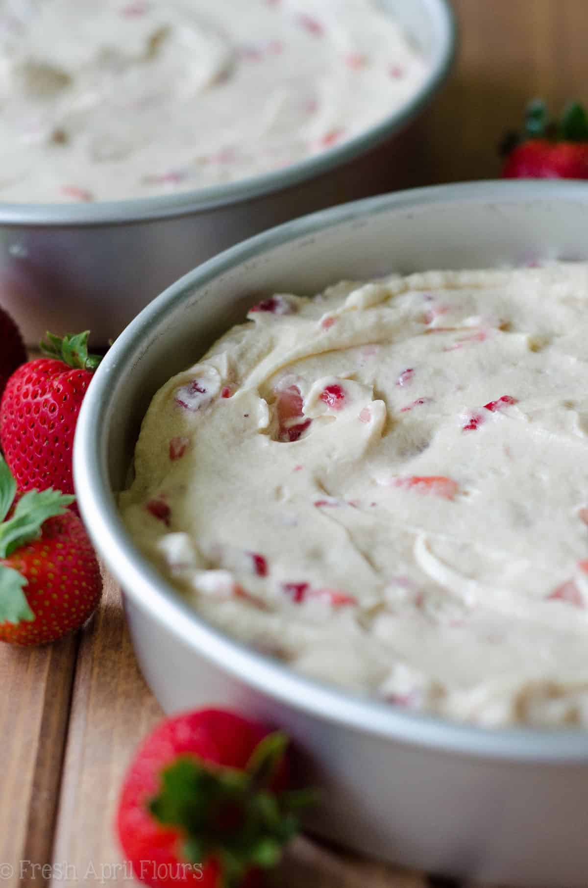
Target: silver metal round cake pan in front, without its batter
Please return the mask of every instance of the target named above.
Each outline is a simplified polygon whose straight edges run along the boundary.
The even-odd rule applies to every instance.
[[[116,340],[83,402],[80,508],[123,586],[139,664],[163,708],[214,703],[285,727],[308,779],[325,790],[310,827],[364,854],[493,884],[585,888],[588,733],[459,725],[298,676],[182,602],[131,543],[115,491],[157,388],[241,321],[259,291],[312,294],[389,271],[588,258],[586,230],[588,185],[576,182],[439,186],[298,219],[155,299]]]

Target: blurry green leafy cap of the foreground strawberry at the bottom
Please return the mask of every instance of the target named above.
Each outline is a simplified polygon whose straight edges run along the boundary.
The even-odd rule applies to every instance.
[[[224,888],[236,888],[251,868],[269,869],[299,829],[298,811],[316,801],[310,790],[276,793],[271,788],[288,738],[268,734],[244,771],[180,756],[161,775],[149,802],[157,821],[185,835],[187,860],[218,860]]]

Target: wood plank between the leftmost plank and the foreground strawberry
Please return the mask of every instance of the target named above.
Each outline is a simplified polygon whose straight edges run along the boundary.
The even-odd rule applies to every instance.
[[[133,750],[161,717],[132,653],[120,591],[106,576],[75,673],[53,849],[60,884],[74,886],[84,877],[128,884],[113,829],[116,800]]]

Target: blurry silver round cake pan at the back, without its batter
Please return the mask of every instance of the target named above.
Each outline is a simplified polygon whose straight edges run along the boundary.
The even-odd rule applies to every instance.
[[[396,140],[433,98],[455,49],[447,0],[382,0],[429,61],[420,89],[377,126],[302,163],[173,196],[88,204],[0,204],[0,305],[29,344],[46,329],[106,345],[171,281],[269,226],[401,184]],[[386,155],[386,151],[389,155]]]

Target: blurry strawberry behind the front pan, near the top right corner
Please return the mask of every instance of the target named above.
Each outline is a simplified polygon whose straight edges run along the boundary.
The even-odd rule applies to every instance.
[[[588,178],[588,115],[572,102],[561,119],[550,119],[544,102],[530,103],[525,130],[503,145],[505,178]]]

